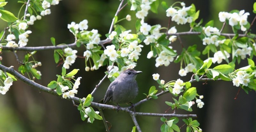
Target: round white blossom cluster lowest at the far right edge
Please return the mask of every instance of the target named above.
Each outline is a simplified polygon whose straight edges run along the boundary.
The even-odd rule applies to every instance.
[[[236,78],[233,78],[233,84],[236,87],[239,87],[240,84],[244,86],[248,86],[248,83],[250,82],[249,78],[250,74],[247,74],[246,71],[240,70],[236,73]]]

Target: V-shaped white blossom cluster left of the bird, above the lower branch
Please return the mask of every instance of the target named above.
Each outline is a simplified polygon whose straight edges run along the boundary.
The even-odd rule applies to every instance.
[[[63,86],[62,84],[59,84],[60,88],[61,88],[61,92],[63,93],[63,95],[62,95],[63,98],[75,97],[75,94],[77,94],[77,90],[76,89],[78,89],[78,86],[80,85],[80,79],[81,78],[82,77],[78,77],[76,79],[76,82],[74,83],[74,86],[73,86],[72,90],[68,90],[69,89],[68,86]],[[68,90],[68,91],[65,92],[66,90]]]

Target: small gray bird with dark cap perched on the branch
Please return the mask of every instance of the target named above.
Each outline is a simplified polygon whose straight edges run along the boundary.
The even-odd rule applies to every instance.
[[[116,103],[117,112],[119,110],[119,104],[131,103],[130,101],[138,95],[139,88],[135,78],[139,73],[142,72],[133,69],[127,69],[122,72],[108,86],[103,103],[106,104],[109,101]]]

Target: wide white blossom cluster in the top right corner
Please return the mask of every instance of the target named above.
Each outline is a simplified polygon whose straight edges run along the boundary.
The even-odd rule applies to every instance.
[[[228,13],[228,12],[220,12],[219,13],[219,19],[221,22],[226,21],[228,19],[228,24],[230,26],[236,26],[240,25],[242,31],[246,31],[245,25],[247,25],[248,21],[248,15],[250,15],[249,12],[244,13],[244,10],[241,10],[240,12],[233,12],[233,13]]]

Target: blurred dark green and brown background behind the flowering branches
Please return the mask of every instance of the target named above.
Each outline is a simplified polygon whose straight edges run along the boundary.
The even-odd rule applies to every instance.
[[[6,0],[8,4],[5,9],[18,15],[21,4],[16,0]],[[161,2],[162,0],[160,0]],[[174,3],[174,0],[167,0],[168,5]],[[248,21],[251,23],[255,14],[252,13],[252,5],[254,0],[185,0],[186,6],[194,3],[196,10],[200,10],[199,19],[204,19],[204,23],[214,19],[214,27],[221,28],[222,23],[219,21],[218,14],[220,11],[229,12],[233,9],[245,10],[250,12]],[[73,43],[74,36],[68,31],[67,24],[75,21],[87,19],[89,21],[89,29],[98,29],[102,35],[101,39],[105,39],[105,34],[108,33],[111,21],[119,5],[118,0],[63,0],[59,5],[52,6],[51,15],[43,17],[42,20],[37,20],[34,25],[29,26],[28,30],[32,31],[29,35],[27,46],[48,46],[52,45],[50,37],[55,37],[56,43]],[[120,22],[126,29],[132,29],[135,32],[135,12],[129,10],[127,6],[120,12],[118,18],[124,18],[127,14],[132,15],[132,21],[126,20]],[[159,6],[158,14],[151,11],[145,19],[150,25],[161,24],[162,27],[167,27],[168,18],[165,11]],[[188,25],[177,25],[171,22],[171,26],[176,26],[178,32],[189,31]],[[7,23],[0,20],[0,29],[7,27]],[[252,32],[255,33],[255,24],[252,27]],[[226,26],[223,33],[231,33],[230,26]],[[164,31],[165,32],[165,31]],[[185,47],[197,44],[198,50],[202,51],[204,45],[196,36],[181,36]],[[172,43],[171,46],[180,53],[181,46],[179,41]],[[82,56],[84,48],[77,48],[78,54]],[[191,73],[186,77],[180,77],[178,71],[180,64],[171,63],[168,67],[155,67],[155,58],[147,59],[147,53],[150,50],[148,46],[144,46],[142,55],[138,61],[138,66],[135,70],[143,71],[143,74],[137,76],[137,82],[140,88],[138,97],[132,102],[138,102],[144,99],[142,93],[148,93],[150,86],[157,83],[152,79],[152,74],[160,74],[160,79],[165,82],[177,80],[189,81]],[[17,54],[22,60],[26,52],[18,51]],[[212,54],[213,56],[213,54]],[[19,67],[15,56],[10,51],[2,53],[2,64],[5,66],[14,66],[17,70]],[[201,56],[206,59],[206,56]],[[43,74],[41,80],[36,80],[37,83],[47,86],[47,84],[56,80],[56,74],[61,73],[61,66],[56,67],[53,59],[53,51],[40,51],[35,55],[36,60],[41,61],[43,66],[38,69]],[[237,67],[247,65],[247,60],[241,61]],[[86,97],[92,92],[95,85],[105,75],[106,67],[100,67],[99,70],[85,72],[84,59],[77,58],[76,63],[70,68],[80,69],[76,77],[81,76],[81,85],[78,89],[77,97]],[[192,86],[197,88],[200,95],[204,95],[203,102],[205,103],[202,109],[193,105],[193,112],[188,113],[183,110],[177,110],[179,114],[197,114],[196,120],[200,123],[200,128],[206,132],[252,132],[256,131],[256,93],[249,92],[247,95],[243,90],[240,91],[238,98],[235,100],[238,87],[233,87],[232,82],[204,82],[192,83]],[[108,88],[110,81],[106,79],[99,87],[94,95],[94,101],[102,99]],[[160,89],[159,89],[160,90]],[[138,112],[164,113],[169,107],[164,101],[172,101],[172,96],[166,94],[159,97],[157,100],[150,100],[136,107]],[[52,96],[48,93],[40,92],[35,88],[31,88],[25,83],[18,81],[14,82],[11,89],[6,95],[0,95],[0,132],[63,132],[63,131],[93,131],[103,132],[105,127],[102,120],[95,120],[93,124],[87,123],[80,119],[80,113],[71,101],[61,99],[60,97]],[[127,105],[123,105],[127,106]],[[116,111],[104,110],[105,118],[111,124],[113,132],[129,132],[134,126],[130,115],[126,113],[116,113]],[[169,111],[172,113],[172,110]],[[143,131],[157,132],[160,131],[160,126],[163,122],[159,117],[138,117],[138,122]],[[180,119],[178,126],[182,126],[184,122]],[[185,131],[183,127],[181,131]]]

